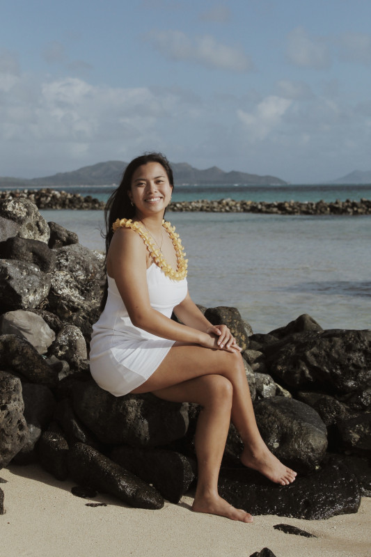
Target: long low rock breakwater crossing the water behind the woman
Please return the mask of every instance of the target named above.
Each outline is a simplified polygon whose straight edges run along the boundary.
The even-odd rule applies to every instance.
[[[0,191],[0,201],[12,198],[29,199],[38,209],[104,210],[104,201],[92,196],[71,194],[67,191],[43,188],[39,190]],[[287,215],[369,215],[371,200],[359,201],[235,201],[231,198],[219,200],[175,201],[168,205],[168,212],[245,212]]]

